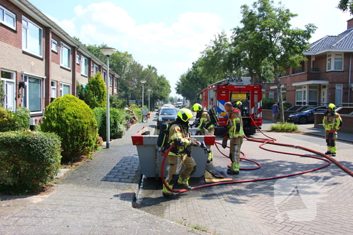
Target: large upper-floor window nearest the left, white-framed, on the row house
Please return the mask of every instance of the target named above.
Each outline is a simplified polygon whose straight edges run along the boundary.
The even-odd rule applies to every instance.
[[[22,16],[22,49],[42,56],[43,29]]]

